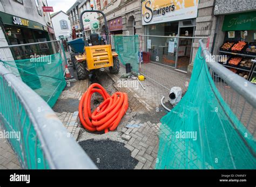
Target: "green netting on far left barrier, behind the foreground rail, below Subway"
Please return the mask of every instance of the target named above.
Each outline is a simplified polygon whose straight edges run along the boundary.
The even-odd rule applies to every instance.
[[[59,53],[36,59],[2,61],[4,66],[20,77],[51,107],[66,86],[62,57]]]

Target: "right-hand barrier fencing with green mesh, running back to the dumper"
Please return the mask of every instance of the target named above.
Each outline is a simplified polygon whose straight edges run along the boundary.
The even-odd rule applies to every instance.
[[[161,119],[156,169],[256,168],[255,85],[215,62],[202,40],[196,59],[191,59],[191,47],[198,38],[113,39],[122,64],[131,63],[146,81],[166,89],[170,89],[167,80],[172,69],[186,71],[194,62],[185,96]]]

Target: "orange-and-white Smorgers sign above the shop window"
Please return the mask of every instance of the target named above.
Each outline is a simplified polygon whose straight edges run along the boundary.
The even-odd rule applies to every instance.
[[[199,0],[146,0],[142,2],[143,25],[197,17]]]

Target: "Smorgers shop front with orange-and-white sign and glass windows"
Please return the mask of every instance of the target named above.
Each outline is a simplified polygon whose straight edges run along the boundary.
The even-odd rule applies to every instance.
[[[167,37],[193,37],[197,11],[198,1],[193,0],[184,4],[149,0],[142,3],[142,21],[145,35],[148,35],[144,47],[152,62],[187,70],[193,40]]]

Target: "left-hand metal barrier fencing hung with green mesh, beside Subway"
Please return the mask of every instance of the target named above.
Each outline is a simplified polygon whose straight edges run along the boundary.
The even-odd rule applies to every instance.
[[[0,47],[0,124],[24,169],[96,169],[53,106],[66,83],[60,41]]]

